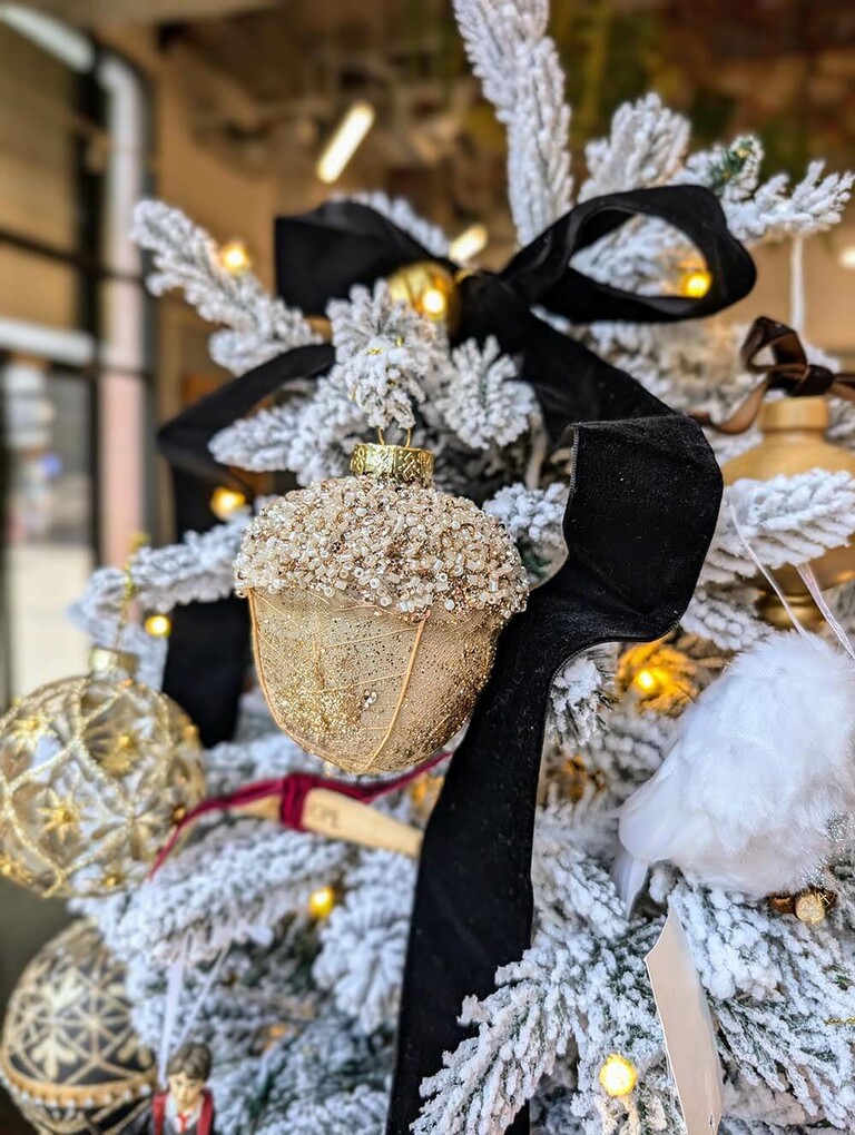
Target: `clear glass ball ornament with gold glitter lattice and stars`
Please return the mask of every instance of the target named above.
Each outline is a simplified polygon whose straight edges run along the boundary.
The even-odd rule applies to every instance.
[[[204,796],[190,717],[134,681],[135,658],[42,686],[0,718],[0,874],[48,897],[141,882]]]

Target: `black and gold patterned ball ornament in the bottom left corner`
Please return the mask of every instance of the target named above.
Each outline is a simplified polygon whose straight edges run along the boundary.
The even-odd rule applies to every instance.
[[[95,927],[73,923],[24,970],[6,1011],[0,1077],[36,1130],[119,1135],[157,1069],[131,1024],[125,974]]]

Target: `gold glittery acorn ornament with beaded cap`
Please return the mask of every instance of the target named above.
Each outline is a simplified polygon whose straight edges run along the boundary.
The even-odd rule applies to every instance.
[[[498,521],[431,486],[427,451],[359,445],[351,468],[261,510],[236,587],[279,728],[347,772],[393,772],[471,713],[526,572]]]

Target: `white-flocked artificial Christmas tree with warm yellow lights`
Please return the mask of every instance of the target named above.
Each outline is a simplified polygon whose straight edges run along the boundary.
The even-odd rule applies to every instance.
[[[165,448],[187,476],[208,477],[208,493],[230,484],[229,468],[290,470],[305,487],[344,477],[376,414],[394,406],[413,445],[434,452],[438,488],[501,521],[528,570],[528,609],[500,638],[472,722],[442,766],[412,925],[406,856],[215,813],[151,882],[77,907],[125,962],[136,1032],[161,1067],[190,1039],[210,1045],[218,1129],[234,1135],[379,1133],[387,1123],[486,1135],[522,1130],[529,1101],[544,1135],[684,1130],[645,968],[669,908],[713,1011],[721,1130],[849,1130],[847,825],[828,832],[827,854],[811,864],[818,877],[798,881],[799,894],[836,894],[813,923],[787,913],[798,894],[770,903],[738,873],[731,890],[716,889],[721,873],[704,877],[684,857],[684,875],[665,846],[644,847],[652,872],[631,913],[610,872],[618,809],[689,732],[681,714],[701,709],[722,672],[732,687],[748,665],[727,671],[732,658],[773,633],[754,606],[755,561],[774,572],[855,533],[845,470],[738,479],[719,508],[711,451],[682,417],[726,421],[756,385],[740,360],[746,329],[694,318],[749,288],[738,241],[828,228],[852,179],[815,166],[791,192],[780,177],[761,182],[749,137],[687,157],[688,124],[651,95],[617,112],[575,187],[544,3],[455,8],[508,128],[522,247],[502,272],[462,276],[437,229],[371,195],[279,221],[271,297],[251,274],[223,268],[177,211],[146,203],[137,213],[156,287],[184,288],[225,325],[212,354],[243,376],[167,429]],[[447,323],[389,302],[384,280],[424,261],[445,274]],[[397,342],[409,335],[416,355]],[[811,347],[808,360],[833,370]],[[274,393],[273,406],[252,412]],[[855,448],[849,403],[832,397],[829,409],[831,439]],[[754,427],[709,437],[720,463],[758,440]],[[250,520],[238,511],[181,545],[141,552],[132,574],[145,608],[229,595]],[[95,639],[111,641],[123,594],[120,572],[93,578],[76,613]],[[850,582],[825,596],[844,631],[855,625],[854,596]],[[131,633],[125,646],[143,654],[150,681],[162,641]],[[833,662],[845,689],[848,659]],[[243,655],[234,664],[242,671]],[[196,681],[203,688],[204,674]],[[782,696],[797,708],[803,691],[791,681]],[[740,762],[773,740],[762,717],[751,746],[738,725],[724,815],[713,817],[722,854],[738,854],[724,821],[746,810]],[[712,776],[715,753],[696,758]],[[374,807],[424,825],[439,767]],[[777,767],[752,789],[752,808],[763,810],[764,792],[770,812],[780,807]],[[257,692],[244,698],[235,739],[207,754],[215,797],[297,772],[321,765],[275,729]],[[824,808],[828,785],[812,783]],[[677,830],[673,809],[694,804],[691,776],[687,785],[661,809]],[[799,804],[810,812],[810,800]]]

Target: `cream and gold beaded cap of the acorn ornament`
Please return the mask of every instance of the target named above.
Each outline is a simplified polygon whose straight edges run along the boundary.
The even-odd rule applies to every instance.
[[[444,617],[510,619],[528,587],[506,530],[471,501],[433,488],[343,477],[265,505],[235,562],[238,595],[291,588]]]

